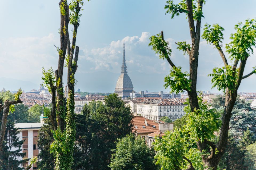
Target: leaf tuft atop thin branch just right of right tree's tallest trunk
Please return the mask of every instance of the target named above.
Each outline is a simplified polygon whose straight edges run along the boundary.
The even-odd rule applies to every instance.
[[[215,48],[220,49],[222,47],[223,33],[224,28],[219,26],[219,24],[205,24],[205,28],[203,29],[202,38],[207,41],[207,43],[213,44]]]

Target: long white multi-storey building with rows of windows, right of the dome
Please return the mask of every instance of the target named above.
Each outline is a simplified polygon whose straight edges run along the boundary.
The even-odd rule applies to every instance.
[[[159,121],[161,117],[167,116],[175,121],[186,114],[185,106],[183,101],[177,99],[148,100],[137,103],[137,114],[149,120]]]

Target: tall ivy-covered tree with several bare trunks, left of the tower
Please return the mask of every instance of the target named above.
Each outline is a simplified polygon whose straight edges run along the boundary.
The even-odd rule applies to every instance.
[[[51,152],[56,159],[55,169],[57,170],[71,169],[74,161],[73,151],[76,132],[74,121],[74,85],[79,54],[76,38],[82,15],[80,13],[81,6],[83,6],[83,0],[71,0],[70,3],[67,0],[59,2],[61,27],[59,29],[60,47],[56,47],[59,53],[58,69],[55,72],[52,68],[49,70],[43,69],[42,79],[52,95],[52,108],[49,118],[51,124],[53,124],[54,141],[51,144]],[[70,42],[69,36],[69,23],[73,25],[72,42]],[[63,93],[64,66],[67,67],[69,96],[66,105]]]

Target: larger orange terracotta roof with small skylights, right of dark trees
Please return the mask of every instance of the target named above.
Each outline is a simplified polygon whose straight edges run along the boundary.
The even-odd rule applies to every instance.
[[[145,124],[145,120],[147,121],[147,125]],[[133,133],[135,131],[137,133],[153,133],[153,132],[159,131],[158,123],[156,123],[152,120],[148,120],[142,116],[134,116],[132,121],[134,124]],[[143,126],[145,128],[143,128]]]

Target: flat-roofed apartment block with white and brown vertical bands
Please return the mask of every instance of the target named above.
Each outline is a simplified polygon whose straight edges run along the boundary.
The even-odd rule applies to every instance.
[[[22,145],[22,152],[26,153],[23,159],[31,159],[38,156],[38,130],[42,127],[42,123],[17,123],[14,124],[20,133],[18,134],[19,140],[24,140]],[[15,148],[14,148],[15,149]],[[19,158],[22,159],[22,158]],[[23,163],[21,167],[27,167],[28,162]],[[32,169],[37,169],[37,164],[34,163]]]

